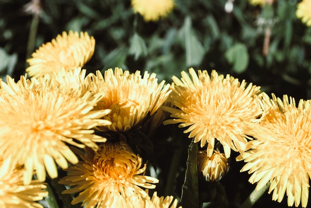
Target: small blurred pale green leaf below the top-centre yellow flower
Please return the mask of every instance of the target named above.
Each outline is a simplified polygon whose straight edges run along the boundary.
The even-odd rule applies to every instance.
[[[134,33],[131,39],[131,45],[129,48],[129,54],[134,55],[134,60],[137,61],[139,57],[146,57],[148,54],[148,49],[145,40],[139,36],[139,34]]]

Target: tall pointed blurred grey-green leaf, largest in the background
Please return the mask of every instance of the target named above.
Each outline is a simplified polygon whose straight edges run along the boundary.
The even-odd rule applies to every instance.
[[[178,38],[186,50],[186,66],[200,65],[205,55],[205,50],[192,29],[191,18],[189,16],[185,18]]]

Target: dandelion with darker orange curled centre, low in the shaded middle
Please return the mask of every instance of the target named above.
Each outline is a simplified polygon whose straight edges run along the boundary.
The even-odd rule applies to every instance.
[[[83,202],[86,208],[126,208],[148,194],[141,188],[154,189],[156,178],[141,175],[146,164],[126,142],[106,142],[97,152],[85,148],[86,154],[73,149],[83,161],[67,169],[68,176],[59,183],[76,186],[64,194],[79,193],[72,204]]]

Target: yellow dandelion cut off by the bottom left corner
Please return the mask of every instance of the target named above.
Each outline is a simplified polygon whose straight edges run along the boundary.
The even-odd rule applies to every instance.
[[[0,177],[0,207],[43,208],[36,201],[48,196],[48,192],[43,190],[45,188],[46,185],[37,180],[32,180],[29,185],[24,185],[22,169],[14,169]]]

